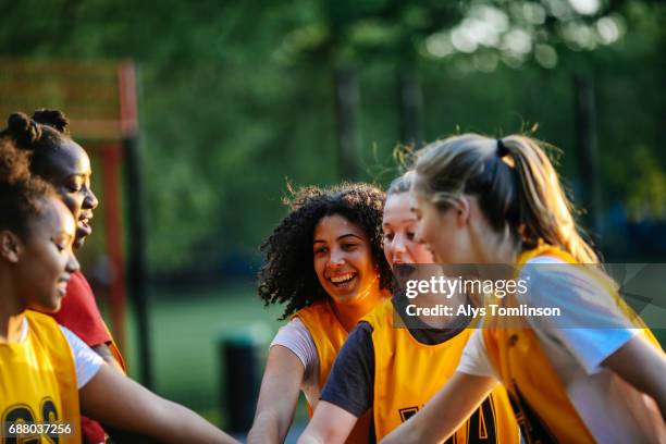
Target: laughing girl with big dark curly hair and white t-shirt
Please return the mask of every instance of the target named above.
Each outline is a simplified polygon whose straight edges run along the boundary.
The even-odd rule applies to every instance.
[[[306,187],[261,246],[259,296],[285,304],[269,353],[248,442],[283,442],[303,391],[311,414],[348,332],[391,295],[382,249],[384,193],[367,184]],[[350,442],[368,442],[370,416]]]

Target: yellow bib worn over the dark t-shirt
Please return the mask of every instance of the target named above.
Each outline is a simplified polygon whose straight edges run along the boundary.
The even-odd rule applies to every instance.
[[[394,328],[391,300],[363,321],[372,326],[373,417],[379,441],[415,415],[451,379],[472,330],[462,330],[442,344],[421,344],[406,328]],[[518,443],[518,427],[504,387],[493,390],[448,442]]]

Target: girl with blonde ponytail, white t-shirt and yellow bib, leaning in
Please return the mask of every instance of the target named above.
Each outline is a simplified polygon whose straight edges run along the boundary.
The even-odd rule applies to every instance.
[[[501,304],[562,314],[486,317],[455,374],[383,442],[445,440],[497,382],[527,443],[666,442],[665,355],[594,267],[540,143],[465,134],[423,148],[415,170],[416,236],[437,263],[515,266],[529,292]]]

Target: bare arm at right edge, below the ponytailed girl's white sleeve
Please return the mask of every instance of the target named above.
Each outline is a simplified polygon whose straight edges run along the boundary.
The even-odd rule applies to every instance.
[[[666,358],[642,335],[633,336],[603,362],[638,391],[650,395],[666,419]]]

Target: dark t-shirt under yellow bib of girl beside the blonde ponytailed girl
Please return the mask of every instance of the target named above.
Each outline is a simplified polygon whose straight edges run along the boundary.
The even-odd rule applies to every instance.
[[[395,305],[395,299],[393,299]],[[402,310],[398,310],[402,312]],[[414,323],[414,320],[410,320]],[[456,336],[469,324],[469,319],[457,322],[453,329],[409,329],[415,340],[425,345],[442,344]],[[355,417],[362,416],[372,407],[374,392],[374,347],[372,326],[361,321],[351,330],[341,348],[321,399],[341,407]]]

